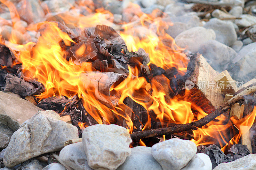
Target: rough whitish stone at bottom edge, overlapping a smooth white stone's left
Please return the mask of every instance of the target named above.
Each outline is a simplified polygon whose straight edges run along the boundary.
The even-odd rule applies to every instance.
[[[154,144],[151,153],[164,170],[181,169],[196,155],[196,144],[189,140],[172,138]]]

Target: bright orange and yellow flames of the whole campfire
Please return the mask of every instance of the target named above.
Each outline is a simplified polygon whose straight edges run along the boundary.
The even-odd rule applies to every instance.
[[[177,98],[171,99],[170,92],[172,92],[172,89],[170,82],[164,75],[156,76],[148,82],[146,78],[139,76],[140,71],[137,67],[129,67],[128,77],[118,85],[111,86],[110,93],[115,93],[118,105],[111,104],[110,101],[107,103],[100,101],[96,97],[94,87],[90,84],[83,84],[83,81],[90,82],[88,77],[84,77],[84,73],[92,71],[91,63],[82,62],[77,64],[72,59],[67,59],[68,54],[60,45],[64,43],[66,46],[70,46],[76,42],[67,33],[62,32],[56,22],[31,23],[27,28],[22,28],[18,22],[20,16],[11,1],[0,1],[12,11],[13,23],[12,33],[9,37],[5,37],[6,41],[1,41],[1,43],[12,49],[18,60],[14,64],[22,63],[23,73],[27,79],[35,78],[44,85],[45,92],[36,96],[39,100],[50,96],[67,96],[71,98],[77,95],[83,101],[84,108],[87,111],[86,114],[91,115],[98,123],[111,124],[116,121],[116,118],[120,119],[122,117],[126,121],[126,128],[130,133],[137,128],[125,113],[127,106],[124,104],[124,99],[127,97],[141,105],[146,111],[144,116],[146,116],[147,121],[142,122],[140,120],[140,123],[143,124],[140,130],[150,129],[151,119],[156,119],[162,123],[162,126],[166,127],[171,123],[183,124],[196,121],[207,115],[200,107],[190,102],[179,101]],[[66,12],[65,14],[58,14],[58,17],[51,16],[50,13],[47,16],[56,21],[59,19],[59,22],[61,21],[61,23],[69,27],[77,28],[78,31],[99,24],[113,26],[115,29],[120,30],[120,35],[124,39],[128,50],[137,51],[139,48],[143,48],[150,56],[150,63],[165,70],[176,67],[180,75],[184,75],[186,72],[189,59],[183,53],[184,49],[178,47],[173,38],[165,33],[165,30],[172,26],[172,23],[165,22],[158,15],[159,11],[156,10],[147,15],[140,11],[138,5],[129,4],[124,13],[130,16],[128,19],[130,22],[114,25],[112,13],[103,9],[96,9],[94,12],[93,4],[89,1],[78,1],[76,6],[72,8],[84,9],[88,12],[88,15],[77,14],[74,16],[70,12]],[[49,12],[48,9],[45,11]],[[7,21],[0,18],[0,22],[6,23]],[[18,23],[17,28],[22,29],[15,30],[15,23]],[[19,37],[15,31],[25,35],[24,29],[25,31],[40,33],[36,43],[32,42],[29,36],[26,35],[26,43],[18,44]],[[143,29],[142,32],[146,33],[146,35],[142,35],[140,29]],[[75,51],[75,54],[82,56],[87,49],[82,44]],[[150,90],[147,89],[148,85]],[[104,94],[100,95],[107,98]],[[192,110],[196,110],[196,114]],[[241,120],[236,120],[234,117],[229,120],[224,115],[220,115],[215,121],[193,130],[194,139],[192,141],[197,145],[216,142],[223,148],[228,144],[238,143],[241,137],[241,130],[230,141],[227,141],[229,138],[225,131],[230,127],[232,129],[233,125],[238,129],[240,126],[247,126],[248,129],[246,130],[249,130],[255,119],[255,114],[256,108],[250,115]],[[81,129],[87,126],[86,123],[79,122]],[[206,141],[207,137],[211,137],[211,140]],[[165,140],[165,136],[163,138]],[[140,145],[145,146],[141,140]]]

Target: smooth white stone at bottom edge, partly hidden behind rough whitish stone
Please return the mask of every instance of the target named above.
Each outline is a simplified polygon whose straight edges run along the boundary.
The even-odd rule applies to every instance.
[[[208,155],[197,153],[181,170],[212,170],[212,162]]]

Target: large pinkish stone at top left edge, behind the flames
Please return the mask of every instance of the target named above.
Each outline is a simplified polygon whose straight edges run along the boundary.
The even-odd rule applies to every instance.
[[[43,21],[44,10],[37,0],[21,0],[16,9],[20,18],[29,24]]]

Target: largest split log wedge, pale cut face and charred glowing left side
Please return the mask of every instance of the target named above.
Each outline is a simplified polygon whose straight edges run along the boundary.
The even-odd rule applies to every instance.
[[[178,85],[176,96],[179,100],[185,100],[201,107],[205,113],[211,113],[224,103],[224,95],[214,78],[218,75],[205,58],[195,54],[190,58],[187,72]],[[194,87],[186,90],[186,82],[191,82]],[[188,87],[188,86],[187,86]],[[187,88],[188,89],[188,88]]]

